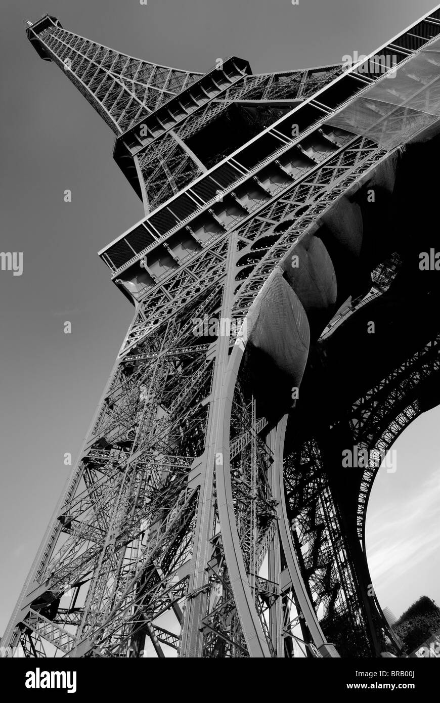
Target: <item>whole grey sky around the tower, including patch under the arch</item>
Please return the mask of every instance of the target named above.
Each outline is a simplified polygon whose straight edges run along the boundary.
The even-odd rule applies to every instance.
[[[24,20],[138,58],[206,71],[216,58],[253,72],[368,54],[434,0],[2,0],[1,241],[22,252],[0,271],[0,634],[86,436],[132,316],[96,252],[143,217],[112,160],[113,135],[63,73],[42,61]],[[64,202],[66,189],[72,202]],[[64,333],[65,321],[72,333]],[[399,615],[419,595],[440,602],[438,409],[401,436],[398,469],[380,473],[367,517],[370,571]]]

